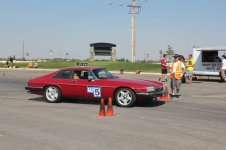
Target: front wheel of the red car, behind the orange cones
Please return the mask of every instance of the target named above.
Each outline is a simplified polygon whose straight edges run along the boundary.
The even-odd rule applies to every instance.
[[[136,102],[136,95],[129,88],[120,88],[115,93],[115,100],[118,106],[131,107]]]

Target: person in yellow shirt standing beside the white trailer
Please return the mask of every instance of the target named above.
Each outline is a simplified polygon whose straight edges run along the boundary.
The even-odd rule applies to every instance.
[[[187,78],[187,83],[192,82],[192,76],[193,76],[193,71],[194,71],[194,66],[195,66],[195,61],[192,58],[192,54],[189,54],[189,60],[187,62],[187,70],[186,70],[186,78]]]

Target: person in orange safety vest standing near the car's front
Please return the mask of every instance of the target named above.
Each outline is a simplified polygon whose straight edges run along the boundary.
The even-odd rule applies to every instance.
[[[170,65],[170,87],[172,96],[179,96],[181,78],[185,72],[185,65],[179,60],[179,55],[174,55],[174,62]]]

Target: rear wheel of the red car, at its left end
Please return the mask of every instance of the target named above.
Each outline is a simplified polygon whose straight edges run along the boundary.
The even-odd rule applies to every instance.
[[[61,92],[58,87],[48,86],[45,88],[44,97],[49,103],[57,103],[61,101]]]

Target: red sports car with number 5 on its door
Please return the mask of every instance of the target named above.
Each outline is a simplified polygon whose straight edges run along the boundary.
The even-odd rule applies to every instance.
[[[107,99],[118,106],[131,107],[139,99],[153,100],[165,93],[161,82],[122,79],[106,68],[78,66],[64,68],[28,81],[25,89],[32,94],[43,95],[47,102],[56,103],[62,97],[79,99]]]

